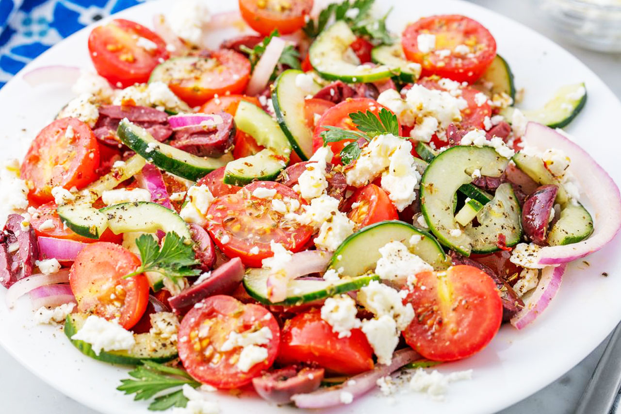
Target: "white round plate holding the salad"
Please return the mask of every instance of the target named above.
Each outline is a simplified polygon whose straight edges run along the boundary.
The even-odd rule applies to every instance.
[[[225,4],[227,3],[227,4]],[[171,2],[153,1],[118,14],[150,25],[156,12]],[[237,2],[210,2],[214,11],[224,11]],[[382,8],[394,4],[389,27],[399,30],[420,16],[458,13],[474,17],[496,37],[498,50],[510,63],[519,88],[526,88],[525,106],[539,106],[560,85],[585,81],[589,99],[582,114],[568,131],[619,183],[619,130],[621,104],[597,76],[578,59],[556,44],[506,17],[473,4],[452,0],[410,2],[385,0]],[[86,28],[51,48],[25,71],[46,65],[75,65],[90,68]],[[53,119],[71,98],[68,87],[58,85],[30,88],[18,74],[0,90],[0,157],[22,157],[30,139]],[[597,185],[597,183],[593,183]],[[597,218],[596,218],[597,224]],[[522,400],[550,384],[587,356],[621,319],[620,238],[590,257],[569,266],[563,286],[552,305],[532,326],[517,331],[503,326],[483,352],[465,361],[445,364],[443,372],[474,369],[473,380],[451,384],[444,402],[418,393],[404,392],[388,400],[373,392],[351,405],[328,410],[338,413],[378,413],[390,410],[420,413],[492,413]],[[603,277],[606,272],[609,277]],[[105,413],[146,413],[147,403],[134,402],[117,392],[127,370],[109,366],[80,354],[66,340],[60,328],[32,326],[29,302],[22,298],[15,310],[2,305],[0,292],[0,343],[25,367],[50,385],[88,407]],[[222,412],[299,413],[291,407],[276,408],[258,397],[238,398],[214,393]]]

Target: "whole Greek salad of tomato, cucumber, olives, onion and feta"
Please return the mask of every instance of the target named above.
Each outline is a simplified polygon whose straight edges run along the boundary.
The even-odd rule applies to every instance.
[[[76,352],[133,366],[119,398],[150,410],[441,398],[472,373],[429,367],[533,323],[621,226],[619,188],[560,129],[586,86],[519,109],[466,16],[397,33],[373,0],[238,4],[114,19],[95,71],[24,75],[73,74],[77,96],[0,170],[6,305],[28,295]],[[206,48],[224,27],[245,32]]]

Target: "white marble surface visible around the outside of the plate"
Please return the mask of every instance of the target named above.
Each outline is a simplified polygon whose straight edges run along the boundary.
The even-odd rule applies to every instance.
[[[472,0],[472,2],[510,16],[555,40],[586,63],[597,75],[601,76],[617,96],[621,97],[621,76],[619,76],[621,55],[604,55],[568,44],[556,35],[545,16],[537,11],[537,0]],[[520,86],[519,79],[517,82]],[[501,414],[573,413],[582,390],[604,351],[606,342],[607,340],[559,380],[530,398],[503,410]],[[533,375],[537,375],[537,372],[533,372]],[[0,412],[3,413],[96,414],[93,410],[65,397],[50,385],[42,382],[1,348],[0,390],[2,390]]]

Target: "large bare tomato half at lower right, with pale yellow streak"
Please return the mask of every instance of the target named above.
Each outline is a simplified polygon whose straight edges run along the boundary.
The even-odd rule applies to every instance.
[[[458,265],[416,275],[404,299],[416,317],[403,332],[407,344],[433,361],[455,361],[481,351],[502,322],[496,283],[483,270]]]

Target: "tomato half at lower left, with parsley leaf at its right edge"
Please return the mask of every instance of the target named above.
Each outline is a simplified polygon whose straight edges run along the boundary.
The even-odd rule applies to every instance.
[[[140,259],[118,244],[96,242],[84,247],[69,272],[78,311],[132,328],[147,309],[149,282],[143,274],[124,276],[139,266]]]

